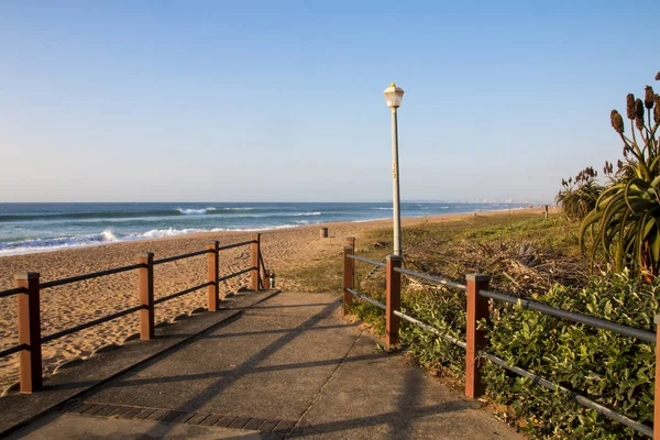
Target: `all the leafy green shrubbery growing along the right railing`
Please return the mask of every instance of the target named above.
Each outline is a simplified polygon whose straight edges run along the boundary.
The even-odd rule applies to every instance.
[[[529,299],[564,310],[654,331],[660,280],[641,283],[627,271],[592,277],[584,288],[556,285]],[[465,294],[410,290],[402,308],[448,334],[465,339]],[[354,308],[384,332],[384,312],[371,305]],[[653,420],[654,345],[610,331],[496,302],[487,352],[558,383],[649,426]],[[402,342],[427,369],[462,381],[462,349],[403,322]],[[486,363],[488,398],[508,406],[522,430],[535,438],[642,439],[630,428],[585,409],[566,396],[542,388],[498,365]]]

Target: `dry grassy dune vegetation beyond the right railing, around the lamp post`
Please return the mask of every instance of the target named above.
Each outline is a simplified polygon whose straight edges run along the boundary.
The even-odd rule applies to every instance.
[[[521,294],[556,282],[583,284],[588,265],[581,256],[578,227],[559,216],[531,213],[476,216],[439,223],[424,222],[403,229],[404,266],[463,282],[465,274],[493,275],[493,286]],[[358,237],[361,256],[384,262],[392,253],[392,229],[371,230]],[[343,258],[336,257],[286,274],[307,292],[342,290]],[[380,294],[382,270],[355,263],[356,288]],[[506,273],[506,275],[504,275]],[[371,290],[371,292],[370,292]]]

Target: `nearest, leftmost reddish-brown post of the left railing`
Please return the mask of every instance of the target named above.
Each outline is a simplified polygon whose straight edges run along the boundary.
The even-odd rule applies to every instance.
[[[18,295],[19,344],[26,345],[19,352],[21,393],[32,393],[43,385],[38,274],[26,272],[16,274],[14,278],[18,287],[25,288]]]

